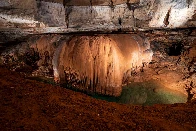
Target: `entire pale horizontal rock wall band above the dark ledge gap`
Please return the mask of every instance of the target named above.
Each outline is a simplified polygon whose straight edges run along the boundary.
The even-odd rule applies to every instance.
[[[111,1],[110,4],[107,1],[82,2],[3,0],[0,3],[0,22],[8,28],[10,24],[13,27],[63,27],[62,32],[196,26],[196,2],[193,0],[113,0],[113,4]]]

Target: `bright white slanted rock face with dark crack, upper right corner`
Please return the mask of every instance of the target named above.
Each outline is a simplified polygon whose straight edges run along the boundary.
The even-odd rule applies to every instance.
[[[149,23],[150,27],[187,27],[186,22],[195,14],[195,1],[160,1]]]

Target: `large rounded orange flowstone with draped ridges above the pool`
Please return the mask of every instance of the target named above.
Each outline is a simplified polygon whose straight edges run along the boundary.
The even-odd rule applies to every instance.
[[[138,35],[72,37],[54,53],[54,78],[88,92],[119,96],[127,73],[151,61],[149,48]]]

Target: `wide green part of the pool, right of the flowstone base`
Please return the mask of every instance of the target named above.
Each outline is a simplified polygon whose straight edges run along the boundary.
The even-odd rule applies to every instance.
[[[119,103],[154,105],[185,103],[187,96],[164,88],[156,82],[131,83],[123,87]]]

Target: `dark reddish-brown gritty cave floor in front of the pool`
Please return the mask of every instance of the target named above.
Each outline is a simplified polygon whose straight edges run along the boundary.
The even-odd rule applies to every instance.
[[[0,72],[0,130],[196,130],[196,101],[117,104]]]

